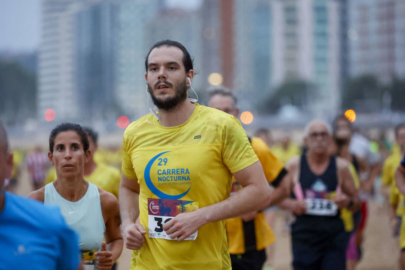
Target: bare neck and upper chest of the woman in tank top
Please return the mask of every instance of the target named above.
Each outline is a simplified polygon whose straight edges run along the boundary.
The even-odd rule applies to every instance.
[[[58,179],[53,181],[53,186],[60,196],[70,202],[77,202],[83,198],[88,185],[87,181],[83,179],[83,175],[72,178],[58,177]]]

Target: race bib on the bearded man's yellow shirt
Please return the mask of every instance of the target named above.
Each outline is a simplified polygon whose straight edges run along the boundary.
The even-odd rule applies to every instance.
[[[180,213],[192,212],[198,209],[198,202],[185,200],[169,199],[150,199],[148,198],[148,229],[150,238],[172,239],[163,230],[163,224],[173,219]],[[185,240],[195,240],[197,233],[190,235]]]

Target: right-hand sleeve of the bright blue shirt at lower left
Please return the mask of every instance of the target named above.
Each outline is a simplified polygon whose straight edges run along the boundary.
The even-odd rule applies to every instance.
[[[56,262],[56,269],[76,270],[81,263],[79,257],[79,235],[66,224],[59,209],[55,211],[55,215],[58,215],[58,219],[60,220],[58,230],[56,230],[59,237],[60,251]]]

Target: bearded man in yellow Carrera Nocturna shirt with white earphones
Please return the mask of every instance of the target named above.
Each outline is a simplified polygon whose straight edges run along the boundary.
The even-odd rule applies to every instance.
[[[188,98],[183,45],[156,43],[145,69],[158,112],[126,129],[119,187],[131,269],[231,269],[224,219],[269,206],[262,166],[235,117]],[[232,175],[244,188],[230,196]]]

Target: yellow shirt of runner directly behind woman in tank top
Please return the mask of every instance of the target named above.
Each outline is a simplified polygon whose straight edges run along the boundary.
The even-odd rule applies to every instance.
[[[117,168],[106,164],[97,163],[96,169],[90,174],[83,177],[86,181],[93,183],[100,189],[112,193],[118,199],[119,182],[121,181],[121,173]],[[47,172],[45,185],[56,179],[55,167],[52,167]]]

